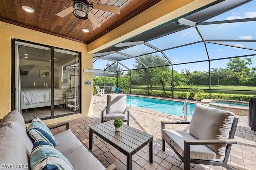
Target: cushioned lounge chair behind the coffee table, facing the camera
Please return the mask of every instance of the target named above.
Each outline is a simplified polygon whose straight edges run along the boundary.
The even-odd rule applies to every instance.
[[[120,118],[129,125],[130,111],[126,106],[126,96],[108,94],[107,98],[107,106],[104,106],[101,111],[101,123]],[[105,110],[106,114],[104,115]],[[126,111],[127,115],[125,114]]]

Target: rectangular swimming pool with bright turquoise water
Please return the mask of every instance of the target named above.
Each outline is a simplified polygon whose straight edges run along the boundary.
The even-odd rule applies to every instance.
[[[127,96],[126,104],[128,107],[143,107],[153,109],[170,115],[184,116],[183,102],[170,100],[161,100],[153,98],[143,98],[137,96]],[[187,115],[191,117],[195,108],[195,104],[188,103]]]

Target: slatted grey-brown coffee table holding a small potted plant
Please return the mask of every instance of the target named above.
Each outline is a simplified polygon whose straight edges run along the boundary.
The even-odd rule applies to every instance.
[[[89,149],[92,149],[93,133],[127,156],[126,164],[128,170],[132,169],[132,155],[148,143],[149,161],[153,162],[153,136],[148,133],[127,125],[123,125],[120,131],[116,132],[113,120],[106,121],[90,127]]]

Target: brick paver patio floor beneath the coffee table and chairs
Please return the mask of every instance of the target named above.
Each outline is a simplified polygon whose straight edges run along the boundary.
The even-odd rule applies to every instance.
[[[80,117],[70,120],[71,131],[84,143],[88,149],[89,127],[101,123],[101,110],[106,105],[106,94],[93,97],[93,113],[88,117]],[[183,120],[179,116],[168,115],[150,109],[130,107],[130,126],[140,129],[154,136],[154,162],[149,162],[149,147],[146,146],[132,156],[133,170],[183,170],[183,163],[180,158],[166,144],[164,152],[161,150],[161,121]],[[237,145],[232,146],[228,164],[237,170],[256,169],[256,133],[248,126],[247,116],[236,116],[239,118],[235,138]],[[167,125],[166,128],[186,131],[188,125]],[[55,135],[64,131],[64,127],[58,128],[52,133]],[[94,135],[93,148],[90,150],[94,156],[102,162],[105,167],[114,163],[118,170],[126,169],[126,156],[107,142]],[[85,158],[86,159],[86,158]],[[220,166],[205,166],[190,164],[191,170],[215,169],[222,170]],[[225,168],[223,168],[225,169]]]

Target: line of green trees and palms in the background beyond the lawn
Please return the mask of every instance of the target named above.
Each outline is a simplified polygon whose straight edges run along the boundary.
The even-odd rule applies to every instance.
[[[165,91],[165,87],[172,86],[172,68],[165,57],[159,54],[149,54],[139,57],[139,60],[150,68],[147,72],[147,69],[139,61],[136,61],[134,70],[131,71],[131,83],[133,85],[146,85],[148,74],[150,90],[152,90],[152,86],[162,86]],[[256,86],[256,67],[248,67],[251,64],[251,58],[234,58],[229,60],[226,68],[211,68],[211,85]],[[116,63],[112,65],[107,63],[106,68],[111,72],[118,70],[119,77],[130,77],[130,72],[124,74],[122,68]],[[209,71],[195,70],[191,72],[185,68],[180,73],[173,70],[173,74],[174,87],[184,87],[189,84],[209,85]],[[114,82],[105,81],[105,84],[109,83],[115,85]]]

